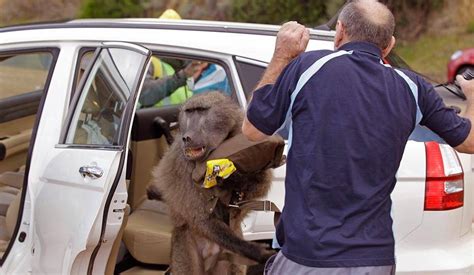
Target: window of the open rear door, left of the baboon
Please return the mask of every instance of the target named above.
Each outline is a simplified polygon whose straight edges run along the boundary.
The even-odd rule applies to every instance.
[[[91,62],[93,65],[89,66]],[[89,73],[82,77],[81,92],[76,94],[66,144],[123,145],[125,110],[130,95],[137,89],[137,76],[144,63],[143,55],[120,48],[104,48],[93,56],[84,55],[81,70]]]

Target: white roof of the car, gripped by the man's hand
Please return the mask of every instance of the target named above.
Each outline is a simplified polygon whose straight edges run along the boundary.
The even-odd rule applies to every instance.
[[[269,62],[279,28],[278,25],[206,20],[79,19],[0,28],[0,49],[2,44],[9,43],[125,41],[193,48]],[[333,31],[310,29],[310,35],[308,50],[332,48]]]

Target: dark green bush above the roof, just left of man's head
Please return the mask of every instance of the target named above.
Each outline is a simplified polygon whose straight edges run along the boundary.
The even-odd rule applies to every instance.
[[[297,20],[305,25],[327,21],[326,0],[234,0],[232,20],[241,22],[281,24]]]

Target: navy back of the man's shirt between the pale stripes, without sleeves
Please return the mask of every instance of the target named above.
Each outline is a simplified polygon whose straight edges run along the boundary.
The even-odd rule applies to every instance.
[[[341,50],[351,52],[327,61],[291,110],[283,252],[309,266],[392,265],[390,193],[415,98],[375,46]],[[300,68],[328,54],[305,54]]]

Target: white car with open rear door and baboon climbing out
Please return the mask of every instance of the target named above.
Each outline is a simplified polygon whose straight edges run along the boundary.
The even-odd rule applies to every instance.
[[[138,108],[147,66],[164,79],[191,60],[206,62],[244,109],[278,29],[152,19],[1,28],[0,272],[165,269],[171,224],[145,188],[176,129],[175,103],[204,76]],[[312,30],[307,50],[332,49],[333,38]],[[474,273],[473,163],[446,145],[407,144],[392,194],[397,273]],[[280,208],[284,178],[284,167],[274,171],[268,195]],[[273,215],[253,212],[242,227],[246,239],[269,241]]]

